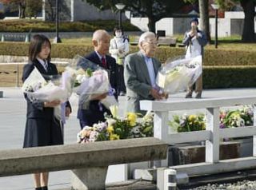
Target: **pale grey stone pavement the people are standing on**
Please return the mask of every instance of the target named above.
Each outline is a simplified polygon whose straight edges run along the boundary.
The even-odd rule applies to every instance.
[[[22,148],[23,134],[26,122],[26,101],[21,89],[0,88],[3,97],[0,98],[0,149]],[[185,93],[170,95],[169,100],[184,100]],[[212,89],[205,90],[202,98],[210,97],[241,97],[256,96],[255,89]],[[77,113],[77,97],[70,97],[73,108],[69,120],[65,125],[65,144],[76,142],[80,130]],[[125,108],[125,97],[119,97],[120,114]],[[184,111],[183,111],[184,112]],[[50,172],[50,190],[70,189],[70,171]],[[32,190],[33,180],[31,175],[7,176],[0,178],[0,190]],[[112,188],[110,188],[112,189]],[[124,188],[122,188],[124,189]]]

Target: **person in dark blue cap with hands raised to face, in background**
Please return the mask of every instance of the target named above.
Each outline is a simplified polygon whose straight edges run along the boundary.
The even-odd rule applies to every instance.
[[[198,30],[198,18],[193,18],[190,21],[191,29],[186,32],[182,43],[186,46],[186,58],[202,55],[203,47],[207,44],[206,35],[202,30]],[[202,97],[202,74],[195,82],[196,98]],[[193,85],[189,86],[186,98],[191,98],[193,93]]]

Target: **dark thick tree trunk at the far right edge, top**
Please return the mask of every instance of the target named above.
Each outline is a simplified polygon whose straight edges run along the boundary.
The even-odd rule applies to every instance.
[[[225,0],[215,0],[222,9],[228,9]],[[242,30],[242,42],[256,42],[254,34],[254,18],[256,0],[230,0],[231,2],[240,2],[245,14],[244,25]]]

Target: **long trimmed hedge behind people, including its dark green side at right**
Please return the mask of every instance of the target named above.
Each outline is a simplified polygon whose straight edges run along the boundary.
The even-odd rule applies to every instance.
[[[28,46],[28,43],[1,42],[0,54],[26,56]],[[92,50],[92,46],[86,45],[53,44],[52,57],[73,58],[76,54],[85,55]],[[136,51],[138,51],[138,47],[131,46],[131,52]],[[183,53],[183,48],[160,47],[156,52],[156,57],[164,62],[167,57],[178,57]],[[203,88],[255,87],[255,61],[256,53],[253,51],[206,49],[203,65]]]

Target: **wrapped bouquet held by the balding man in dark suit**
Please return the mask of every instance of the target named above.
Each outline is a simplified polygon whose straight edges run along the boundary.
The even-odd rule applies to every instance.
[[[111,105],[118,105],[106,69],[102,69],[97,64],[79,55],[74,57],[71,65],[75,65],[77,68],[73,71],[75,75],[73,92],[79,96],[78,105],[81,109],[88,109],[90,100],[103,93],[108,93],[106,98],[101,101],[103,105],[107,108],[110,108]],[[66,69],[71,70],[71,68]]]

